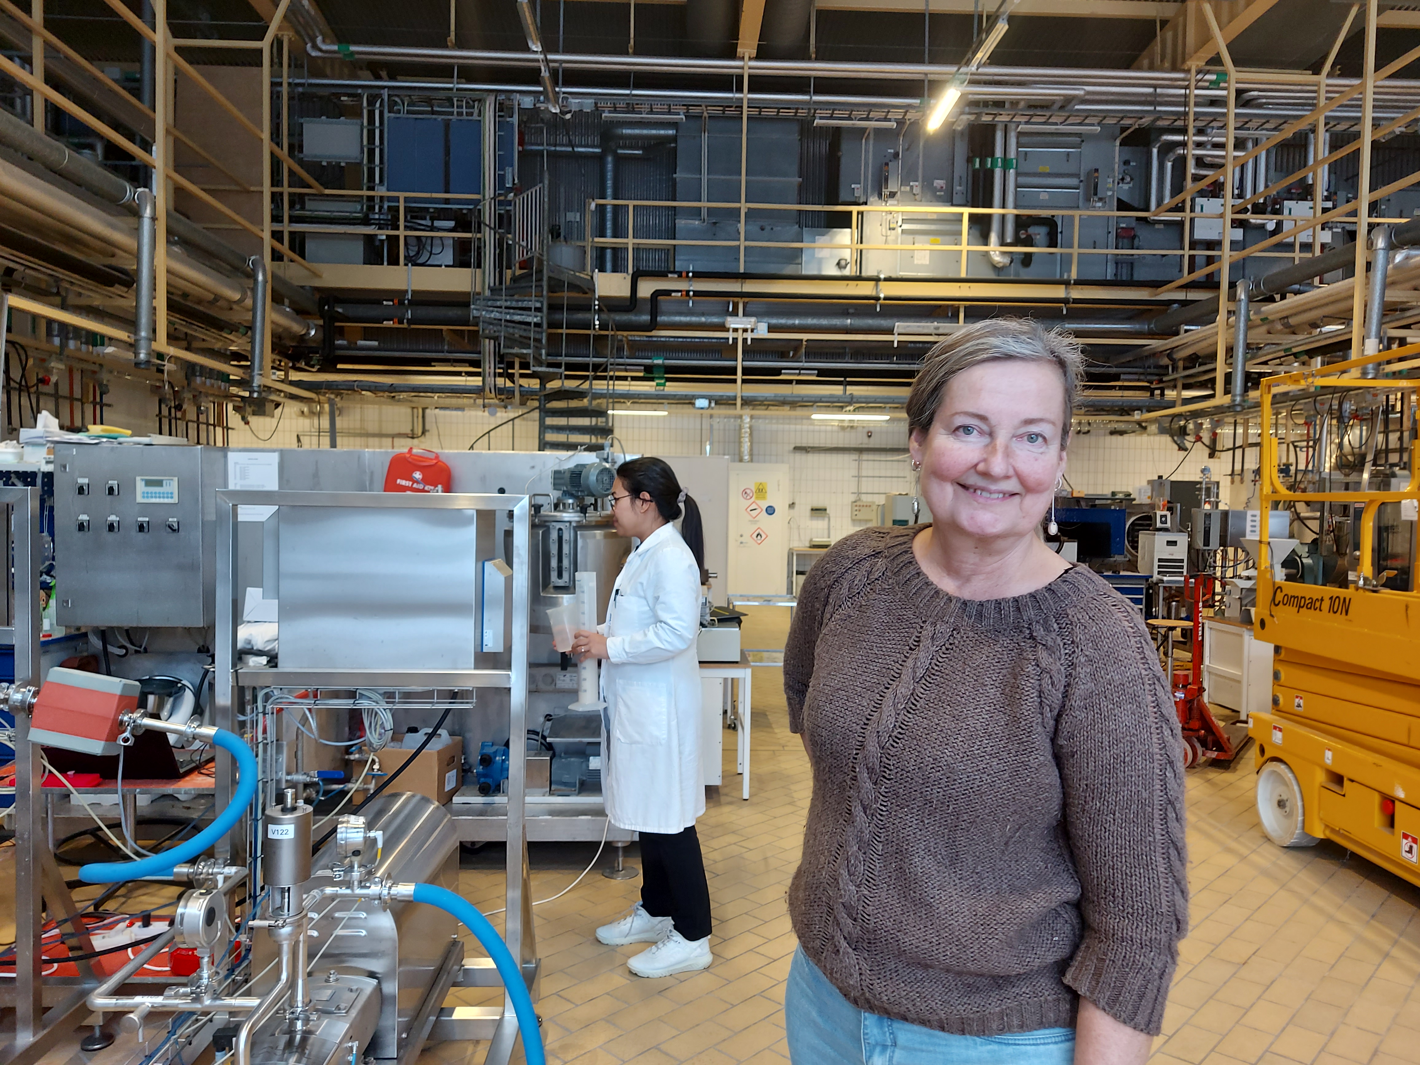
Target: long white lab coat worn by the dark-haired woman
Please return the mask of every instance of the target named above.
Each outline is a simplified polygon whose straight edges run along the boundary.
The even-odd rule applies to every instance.
[[[700,767],[700,567],[670,523],[612,585],[602,795],[618,828],[673,834],[706,812]]]

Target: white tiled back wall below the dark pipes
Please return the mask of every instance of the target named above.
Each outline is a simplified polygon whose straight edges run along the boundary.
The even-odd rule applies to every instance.
[[[389,405],[346,403],[339,409],[337,440],[341,447],[429,447],[460,450],[484,433],[477,447],[493,450],[534,450],[537,447],[537,413],[513,423],[504,410],[490,417],[480,408],[430,408],[423,435],[417,415],[406,408]],[[253,419],[250,427],[236,422],[231,444],[236,447],[264,443],[277,447],[325,447],[325,413],[302,412],[290,406],[280,416]],[[716,412],[672,410],[665,417],[615,417],[618,449],[636,454],[726,454],[731,460],[740,454],[740,417]],[[869,436],[870,433],[870,436]],[[1228,444],[1228,435],[1220,446]],[[795,449],[841,450],[795,450]],[[804,416],[754,415],[751,417],[751,457],[763,463],[788,463],[794,500],[790,518],[790,541],[805,545],[809,540],[836,540],[868,523],[852,520],[853,500],[880,503],[886,493],[913,491],[913,474],[907,459],[907,423],[890,422],[832,423],[812,422]],[[1197,480],[1204,466],[1224,481],[1224,503],[1233,501],[1227,486],[1228,453],[1211,460],[1207,449],[1197,444],[1191,452],[1180,452],[1173,440],[1154,433],[1110,436],[1098,426],[1088,433],[1076,433],[1071,442],[1066,477],[1075,491],[1108,493],[1133,490],[1160,476]],[[1255,466],[1257,452],[1250,453]],[[1233,491],[1245,498],[1251,479],[1240,479]],[[1242,498],[1234,501],[1241,506]],[[809,510],[826,507],[828,520],[815,520]]]

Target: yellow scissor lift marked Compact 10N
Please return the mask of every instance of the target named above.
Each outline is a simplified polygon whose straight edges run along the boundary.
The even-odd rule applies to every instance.
[[[1384,588],[1375,574],[1376,511],[1420,498],[1420,444],[1411,442],[1402,491],[1298,493],[1281,486],[1271,430],[1277,393],[1420,388],[1420,376],[1406,376],[1420,371],[1414,355],[1420,345],[1262,382],[1261,507],[1349,503],[1362,507],[1362,520],[1350,588],[1272,579],[1261,523],[1254,632],[1275,657],[1272,709],[1252,714],[1250,731],[1258,815],[1274,842],[1332,839],[1420,883],[1420,592]],[[1363,378],[1377,361],[1387,376]]]

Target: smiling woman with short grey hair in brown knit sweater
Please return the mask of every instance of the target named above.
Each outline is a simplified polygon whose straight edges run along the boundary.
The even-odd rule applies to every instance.
[[[1179,721],[1142,621],[1041,537],[1081,376],[1030,320],[939,344],[907,400],[932,524],[846,537],[804,584],[795,1065],[1135,1065],[1159,1032]]]

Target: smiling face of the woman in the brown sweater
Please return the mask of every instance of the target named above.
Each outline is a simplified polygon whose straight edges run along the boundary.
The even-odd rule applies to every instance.
[[[1065,471],[1065,382],[1048,362],[961,371],[912,435],[933,524],[973,538],[1035,535]]]

